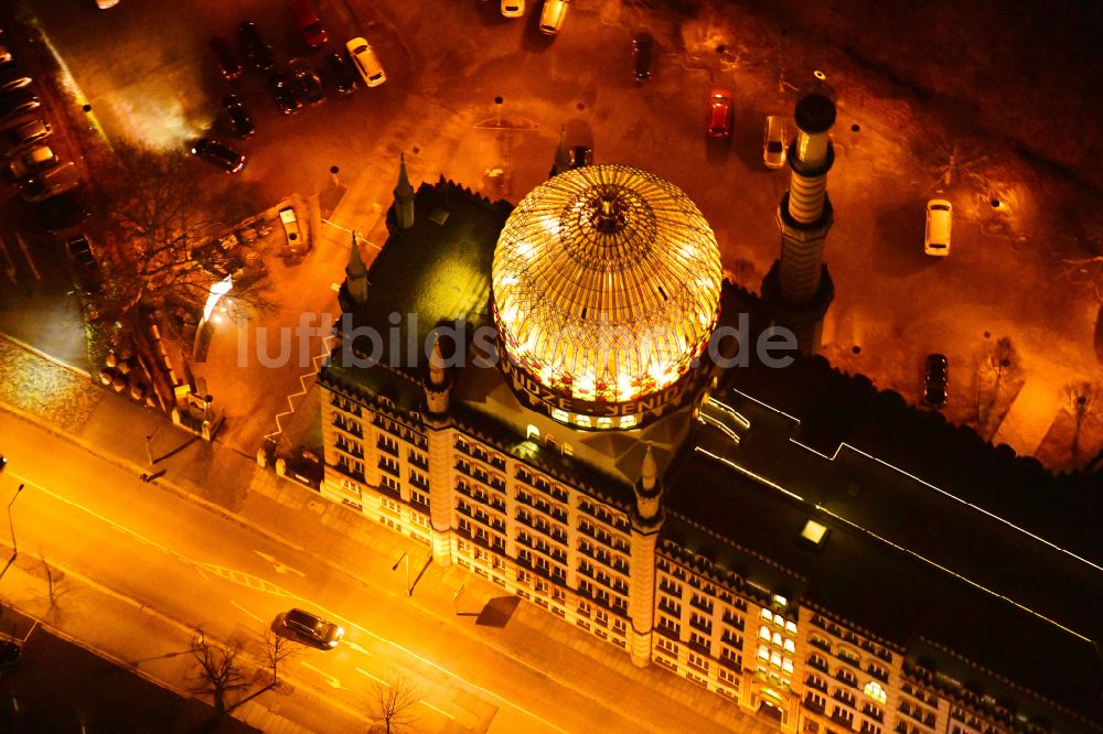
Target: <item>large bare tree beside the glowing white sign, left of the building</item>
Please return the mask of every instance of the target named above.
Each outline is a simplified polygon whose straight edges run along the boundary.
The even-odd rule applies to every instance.
[[[108,283],[100,311],[121,321],[139,305],[202,307],[211,285],[238,269],[218,237],[248,207],[233,196],[204,196],[183,151],[122,142],[115,153],[113,226],[105,233]],[[266,307],[259,282],[235,285],[232,295]]]

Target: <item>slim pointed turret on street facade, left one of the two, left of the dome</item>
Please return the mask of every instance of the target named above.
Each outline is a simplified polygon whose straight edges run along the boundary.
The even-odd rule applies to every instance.
[[[422,420],[429,441],[429,525],[432,535],[432,560],[439,565],[452,562],[452,419],[448,400],[452,381],[445,369],[440,336],[432,339],[429,375],[424,381],[426,411]]]

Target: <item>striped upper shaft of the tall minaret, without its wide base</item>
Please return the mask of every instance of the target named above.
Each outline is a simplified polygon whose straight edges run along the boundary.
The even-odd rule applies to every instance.
[[[835,102],[811,91],[796,102],[796,139],[789,148],[790,188],[781,199],[781,295],[791,304],[816,298],[823,270],[824,240],[832,225],[827,172],[835,161],[827,131]]]

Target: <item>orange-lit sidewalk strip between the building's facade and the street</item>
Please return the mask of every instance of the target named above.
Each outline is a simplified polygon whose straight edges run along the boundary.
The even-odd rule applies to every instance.
[[[40,358],[41,361],[44,360]],[[39,367],[47,371],[63,369],[56,365],[39,364]],[[335,572],[368,587],[382,590],[381,584],[388,583],[385,575],[381,579],[378,569],[390,568],[403,552],[410,554],[414,569],[420,569],[428,559],[426,547],[322,499],[312,489],[278,478],[270,469],[259,468],[253,456],[217,441],[195,440],[118,396],[92,386],[87,389],[99,393],[100,399],[78,425],[73,421],[58,424],[43,420],[20,406],[12,406],[13,412],[136,474],[149,469],[144,436],[160,425],[150,442],[150,453],[160,460],[157,469],[167,469],[157,481],[159,487],[263,536],[293,548],[309,548]],[[2,401],[4,396],[0,395]],[[405,583],[401,568],[393,579],[396,593],[400,593]],[[468,636],[531,669],[538,679],[561,686],[634,722],[630,730],[622,727],[624,731],[772,731],[732,703],[687,680],[655,668],[634,668],[627,654],[532,605],[518,605],[504,628],[476,626],[474,617],[456,614],[453,600],[461,586],[465,606],[505,595],[496,585],[459,568],[429,565],[416,585],[410,604],[436,617],[443,630]],[[452,661],[440,662],[447,667]],[[493,691],[482,693],[495,697]],[[264,699],[257,703],[267,705]],[[495,703],[499,713],[490,722],[480,722],[474,731],[517,731],[521,719],[516,708],[503,699]]]

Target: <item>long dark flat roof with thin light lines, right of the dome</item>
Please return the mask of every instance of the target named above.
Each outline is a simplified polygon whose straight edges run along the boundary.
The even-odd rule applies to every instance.
[[[793,440],[796,421],[738,391],[722,402],[746,427],[737,441],[703,427],[683,449],[664,535],[898,648],[932,640],[1103,720],[1097,558],[849,446],[817,453]],[[827,529],[820,547],[802,538],[810,519]]]

